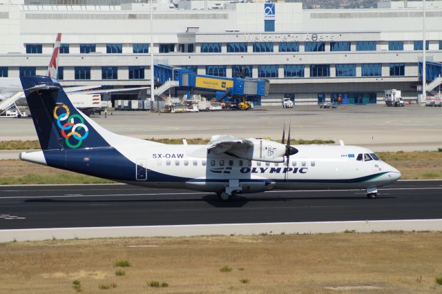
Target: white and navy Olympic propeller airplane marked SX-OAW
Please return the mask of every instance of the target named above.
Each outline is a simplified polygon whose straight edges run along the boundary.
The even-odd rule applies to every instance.
[[[358,146],[290,145],[213,136],[207,145],[167,145],[117,135],[74,108],[50,77],[21,77],[41,151],[20,158],[77,173],[153,188],[188,188],[229,200],[271,189],[365,189],[401,173]]]

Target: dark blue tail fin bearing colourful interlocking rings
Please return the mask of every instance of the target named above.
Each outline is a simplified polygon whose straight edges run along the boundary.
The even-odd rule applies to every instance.
[[[50,77],[20,77],[42,150],[107,147],[109,144]]]

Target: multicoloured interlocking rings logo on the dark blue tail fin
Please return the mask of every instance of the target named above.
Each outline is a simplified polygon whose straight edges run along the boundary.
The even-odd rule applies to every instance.
[[[58,111],[60,109],[60,111]],[[59,113],[61,112],[61,113]],[[84,124],[84,119],[81,115],[70,115],[70,110],[66,104],[59,104],[54,107],[54,118],[57,119],[57,126],[61,129],[61,135],[66,140],[66,145],[69,148],[79,148],[83,140],[89,135],[89,129]],[[68,133],[66,134],[66,131]],[[73,138],[77,142],[72,142]]]

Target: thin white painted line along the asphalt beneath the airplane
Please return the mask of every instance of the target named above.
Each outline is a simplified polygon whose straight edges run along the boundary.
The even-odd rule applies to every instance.
[[[364,189],[340,189],[340,190],[271,190],[265,193],[306,193],[306,192],[343,192],[362,191]],[[385,190],[442,190],[442,187],[422,187],[422,188],[380,188]],[[361,192],[364,193],[364,192]],[[162,195],[207,195],[211,192],[187,192],[187,193],[142,193],[142,194],[102,194],[102,195],[45,195],[45,196],[0,196],[0,199],[39,199],[39,198],[72,198],[72,197],[120,197],[120,196],[162,196]]]

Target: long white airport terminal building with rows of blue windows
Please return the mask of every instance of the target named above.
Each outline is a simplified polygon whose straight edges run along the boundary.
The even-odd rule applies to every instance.
[[[153,48],[148,2],[0,0],[0,77],[44,75],[61,32],[63,86],[148,86],[153,50],[155,63],[201,75],[233,77],[245,69],[247,77],[269,79],[269,96],[256,101],[262,105],[280,105],[283,97],[298,105],[338,97],[376,104],[392,88],[416,101],[421,1],[307,10],[289,1],[158,0]],[[442,1],[427,1],[427,61],[442,62],[441,24]],[[134,95],[145,99],[146,91]]]

